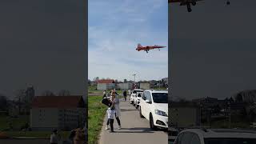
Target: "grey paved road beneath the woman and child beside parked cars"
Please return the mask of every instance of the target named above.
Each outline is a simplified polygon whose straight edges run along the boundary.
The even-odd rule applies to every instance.
[[[129,98],[127,98],[129,99]],[[138,110],[128,101],[120,99],[121,125],[122,130],[118,130],[118,122],[114,119],[114,131],[110,133],[105,130],[105,118],[99,144],[163,144],[168,143],[168,134],[163,130],[150,130],[150,124],[146,118],[140,118]]]

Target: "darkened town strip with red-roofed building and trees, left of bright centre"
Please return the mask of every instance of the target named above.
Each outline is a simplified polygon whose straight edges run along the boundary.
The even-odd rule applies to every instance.
[[[10,100],[0,95],[0,131],[70,131],[86,126],[86,102],[69,90],[36,96],[34,86],[17,90]]]

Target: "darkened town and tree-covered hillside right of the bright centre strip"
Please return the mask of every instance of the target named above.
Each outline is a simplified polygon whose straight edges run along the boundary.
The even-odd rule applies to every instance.
[[[242,90],[223,99],[205,97],[187,100],[171,96],[169,103],[172,127],[256,127],[256,90]]]

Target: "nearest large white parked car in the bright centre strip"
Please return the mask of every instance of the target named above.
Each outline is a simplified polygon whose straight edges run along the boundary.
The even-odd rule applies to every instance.
[[[168,128],[168,91],[145,90],[142,94],[139,115],[150,122],[150,128]]]

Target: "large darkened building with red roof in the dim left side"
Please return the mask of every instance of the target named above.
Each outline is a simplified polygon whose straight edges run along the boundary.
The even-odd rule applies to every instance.
[[[85,126],[82,96],[37,96],[30,110],[32,130],[73,130]]]

